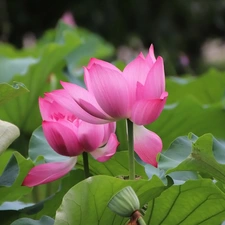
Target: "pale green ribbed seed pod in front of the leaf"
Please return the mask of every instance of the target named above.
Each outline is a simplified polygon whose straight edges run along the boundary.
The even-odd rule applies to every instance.
[[[117,215],[130,217],[134,211],[140,208],[140,202],[132,187],[128,186],[110,199],[108,207]]]

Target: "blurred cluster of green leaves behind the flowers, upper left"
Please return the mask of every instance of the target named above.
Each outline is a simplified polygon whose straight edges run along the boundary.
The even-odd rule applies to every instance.
[[[56,31],[49,32],[51,38],[49,33],[46,34],[29,51],[0,46],[0,82],[17,82],[15,88],[23,83],[30,90],[30,94],[19,96],[0,108],[1,119],[20,128],[19,142],[24,143],[20,150],[24,155],[27,154],[25,149],[32,131],[41,124],[38,97],[60,88],[59,80],[81,83],[78,77],[82,72],[76,72],[81,71],[81,65],[90,57],[107,57],[113,52],[113,47],[105,44],[99,36],[79,28],[72,29],[59,23]],[[4,92],[3,88],[1,90]],[[19,90],[24,90],[23,86]]]

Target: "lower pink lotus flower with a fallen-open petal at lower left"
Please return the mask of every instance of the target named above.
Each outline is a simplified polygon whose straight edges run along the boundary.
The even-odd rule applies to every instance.
[[[55,93],[58,97],[66,97],[65,101],[70,98],[64,90]],[[75,166],[76,156],[84,151],[99,162],[104,162],[115,154],[119,144],[115,135],[115,123],[98,125],[77,119],[54,101],[52,95],[48,93],[45,98],[39,99],[43,132],[49,145],[58,154],[68,156],[68,160],[35,166],[24,179],[25,186],[32,187],[59,179]]]

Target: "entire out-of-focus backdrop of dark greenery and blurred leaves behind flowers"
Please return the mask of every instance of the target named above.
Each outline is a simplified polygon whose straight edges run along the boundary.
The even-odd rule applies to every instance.
[[[59,80],[83,86],[82,66],[91,57],[123,69],[151,43],[165,61],[169,98],[148,128],[165,149],[189,132],[225,140],[224,23],[222,0],[0,0],[0,82],[30,91],[0,107],[1,119],[21,131],[13,148],[27,155],[41,124],[38,98],[61,88]],[[125,125],[118,127],[124,150]]]

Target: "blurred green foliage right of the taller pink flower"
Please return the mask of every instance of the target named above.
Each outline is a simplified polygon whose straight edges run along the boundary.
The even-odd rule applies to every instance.
[[[148,128],[159,134],[165,149],[176,137],[189,132],[213,133],[225,139],[224,85],[224,72],[216,70],[209,70],[200,77],[169,77],[167,106]]]

